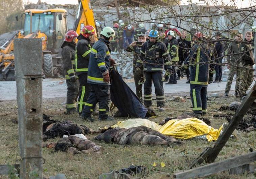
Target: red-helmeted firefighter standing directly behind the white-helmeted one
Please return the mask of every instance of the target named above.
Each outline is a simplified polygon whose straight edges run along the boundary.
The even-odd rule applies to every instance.
[[[82,32],[78,36],[78,42],[76,44],[76,74],[79,78],[79,96],[78,96],[78,113],[79,116],[82,113],[84,104],[89,97],[91,91],[91,85],[87,83],[87,72],[89,57],[91,53],[91,42],[94,42],[94,34],[96,33],[93,26],[84,26]]]

